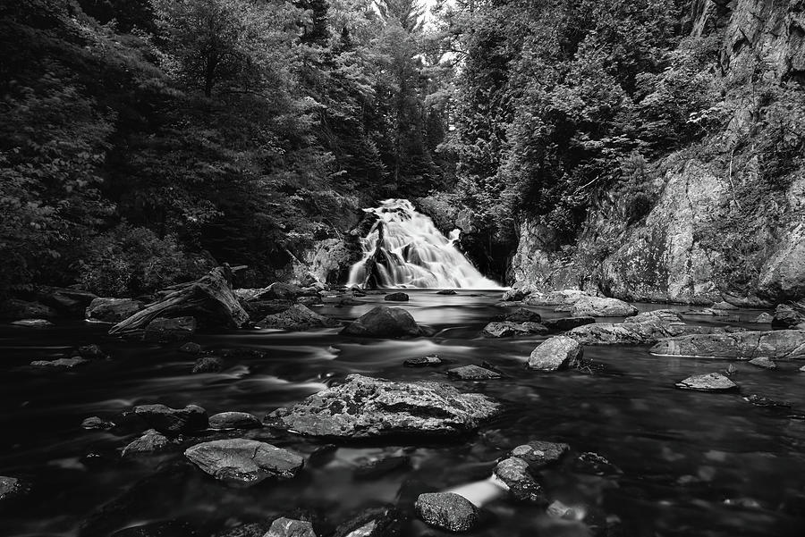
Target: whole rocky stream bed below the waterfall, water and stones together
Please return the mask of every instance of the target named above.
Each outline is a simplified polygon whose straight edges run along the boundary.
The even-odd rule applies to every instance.
[[[587,303],[406,292],[265,324],[305,331],[2,326],[0,534],[801,535],[805,360],[652,352],[768,331],[763,312],[637,304],[664,311],[619,327]],[[421,330],[344,330],[377,306]],[[409,325],[392,314],[379,324]],[[561,339],[571,315],[602,328]],[[489,337],[493,322],[542,328]]]

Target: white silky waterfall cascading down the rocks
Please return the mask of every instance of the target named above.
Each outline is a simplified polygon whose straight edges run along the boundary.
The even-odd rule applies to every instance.
[[[350,285],[362,285],[365,264],[377,247],[377,226],[382,222],[382,248],[389,254],[390,266],[378,264],[382,287],[415,287],[432,289],[500,289],[496,281],[485,278],[455,248],[459,230],[446,238],[433,221],[417,213],[407,199],[386,199],[379,207],[364,209],[374,213],[378,221],[369,235],[360,240],[363,258],[352,265]]]

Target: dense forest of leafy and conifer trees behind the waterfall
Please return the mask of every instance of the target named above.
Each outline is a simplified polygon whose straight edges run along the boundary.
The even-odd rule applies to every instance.
[[[694,157],[733,182],[717,241],[801,176],[805,107],[801,59],[756,32],[731,65],[735,3],[704,4],[4,3],[0,288],[126,296],[222,262],[264,283],[386,197],[501,281],[525,222],[590,273]],[[623,225],[579,248],[606,200]]]

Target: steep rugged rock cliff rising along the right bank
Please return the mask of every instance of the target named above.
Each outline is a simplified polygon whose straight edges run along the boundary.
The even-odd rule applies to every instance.
[[[805,108],[805,1],[699,1],[691,21],[694,35],[721,39],[714,76],[728,88],[723,129],[652,163],[655,199],[638,222],[628,221],[628,202],[613,193],[589,212],[572,248],[560,251],[549,230],[524,222],[515,285],[684,304],[805,297],[803,158],[786,155],[768,172],[764,145],[769,95]]]

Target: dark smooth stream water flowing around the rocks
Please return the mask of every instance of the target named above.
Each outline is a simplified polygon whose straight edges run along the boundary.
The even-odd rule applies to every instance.
[[[586,348],[585,357],[602,366],[594,374],[530,372],[524,362],[541,338],[478,338],[487,320],[504,311],[494,306],[499,293],[410,294],[411,302],[403,307],[419,323],[436,328],[435,337],[352,340],[323,330],[196,338],[205,348],[267,353],[228,357],[223,373],[190,374],[193,358],[177,352],[177,346],[109,338],[102,324],[0,329],[0,474],[33,484],[28,499],[0,512],[0,535],[106,535],[166,520],[211,535],[297,508],[338,524],[383,502],[412,513],[419,493],[483,481],[497,457],[530,440],[564,441],[575,454],[595,451],[621,468],[623,474],[598,477],[574,473],[566,463],[542,473],[540,481],[551,499],[583,508],[595,524],[606,517],[620,520],[623,535],[805,534],[805,422],[741,398],[758,393],[805,410],[805,373],[797,371],[801,364],[783,363],[780,371],[769,372],[735,363],[733,379],[741,385],[740,394],[674,389],[674,382],[686,376],[723,371],[729,362],[653,357],[639,347]],[[381,299],[370,296],[364,298],[367,305],[319,311],[352,319]],[[741,319],[757,313],[741,312]],[[717,319],[690,317],[689,322]],[[113,359],[69,373],[33,373],[24,367],[87,343],[100,344]],[[406,357],[431,353],[449,364],[402,367]],[[483,361],[499,368],[504,378],[448,382],[499,399],[506,411],[469,441],[344,446],[331,458],[319,457],[291,481],[266,481],[249,489],[208,478],[184,460],[182,449],[121,460],[119,450],[137,435],[80,428],[89,415],[114,419],[133,405],[157,402],[171,407],[195,403],[210,415],[238,410],[262,417],[349,373],[446,381],[447,367]],[[305,454],[320,447],[314,441],[251,434]],[[193,441],[198,440],[187,439],[182,448]],[[375,480],[354,479],[361,457],[403,448],[410,451],[410,469]],[[90,453],[95,457],[88,459]],[[505,498],[492,499],[485,508],[487,521],[472,534],[588,534],[581,524],[550,522],[538,508]],[[424,533],[416,521],[403,530],[404,535]]]

